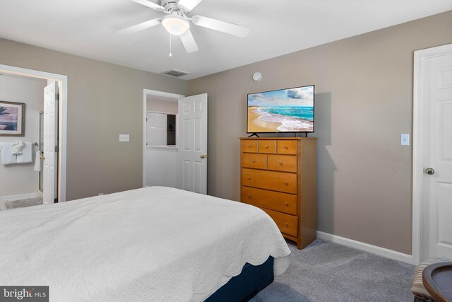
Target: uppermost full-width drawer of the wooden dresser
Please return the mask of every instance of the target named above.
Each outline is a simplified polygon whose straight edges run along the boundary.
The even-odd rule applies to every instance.
[[[244,168],[242,185],[297,194],[297,174]]]

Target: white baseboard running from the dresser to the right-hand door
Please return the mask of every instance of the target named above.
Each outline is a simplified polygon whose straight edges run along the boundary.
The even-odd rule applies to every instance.
[[[352,240],[340,236],[331,235],[328,233],[323,233],[321,231],[317,231],[317,238],[321,238],[323,240],[331,241],[333,243],[338,243],[340,245],[345,245],[350,248],[356,248],[357,250],[364,250],[364,252],[371,252],[372,254],[376,254],[379,256],[383,256],[386,258],[390,258],[393,260],[403,261],[410,264],[413,264],[412,255],[403,254],[403,252],[396,252],[395,250],[388,250],[387,248],[380,248],[376,245],[370,245],[368,243],[362,243],[357,240]]]

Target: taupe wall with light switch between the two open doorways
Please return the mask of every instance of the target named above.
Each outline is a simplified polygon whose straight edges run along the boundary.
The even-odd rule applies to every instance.
[[[68,200],[143,186],[143,88],[184,95],[186,81],[10,40],[0,50],[0,64],[68,76]]]

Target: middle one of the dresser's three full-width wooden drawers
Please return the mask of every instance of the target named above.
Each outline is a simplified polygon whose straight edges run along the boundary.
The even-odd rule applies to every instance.
[[[297,215],[297,195],[242,187],[242,202]]]

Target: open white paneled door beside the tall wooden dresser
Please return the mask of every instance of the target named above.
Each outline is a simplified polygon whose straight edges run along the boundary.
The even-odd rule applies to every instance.
[[[179,187],[207,194],[207,93],[179,99]]]

